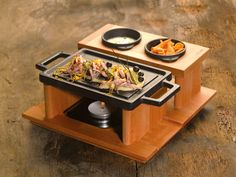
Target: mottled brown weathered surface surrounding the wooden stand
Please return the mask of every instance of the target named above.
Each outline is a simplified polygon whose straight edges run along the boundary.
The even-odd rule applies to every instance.
[[[236,176],[235,0],[1,0],[0,14],[0,176]],[[108,23],[210,48],[201,84],[216,97],[144,165],[21,118],[43,100],[35,63]]]

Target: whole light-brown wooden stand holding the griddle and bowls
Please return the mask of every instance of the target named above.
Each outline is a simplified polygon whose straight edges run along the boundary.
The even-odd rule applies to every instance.
[[[91,48],[105,53],[111,49],[101,44],[101,35],[118,26],[106,25],[78,43],[79,48]],[[45,103],[29,108],[23,117],[33,123],[87,142],[97,147],[121,154],[131,159],[146,162],[178,133],[215,95],[216,91],[201,86],[201,64],[208,48],[185,43],[186,54],[174,63],[153,60],[144,53],[144,45],[155,38],[141,32],[142,42],[129,51],[116,51],[124,58],[170,70],[181,91],[173,102],[161,107],[141,104],[132,111],[122,110],[122,138],[113,128],[100,129],[81,121],[73,120],[63,111],[80,97],[65,90],[45,85]],[[155,93],[159,97],[165,90]]]

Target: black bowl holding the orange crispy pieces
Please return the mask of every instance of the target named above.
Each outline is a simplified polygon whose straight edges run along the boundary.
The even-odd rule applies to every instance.
[[[179,40],[176,40],[176,39],[171,39],[171,41],[173,43],[177,43],[177,42],[180,42],[184,45],[184,49],[181,50],[180,52],[176,53],[176,54],[173,54],[173,55],[160,55],[160,54],[156,54],[156,53],[153,53],[151,51],[151,48],[160,44],[161,40],[167,40],[168,38],[162,38],[162,39],[155,39],[155,40],[152,40],[150,41],[149,43],[147,43],[145,45],[145,52],[148,56],[152,57],[152,58],[155,58],[155,59],[160,59],[162,61],[165,61],[165,62],[174,62],[176,60],[178,60],[181,56],[183,56],[186,52],[186,46],[183,42],[179,41]]]

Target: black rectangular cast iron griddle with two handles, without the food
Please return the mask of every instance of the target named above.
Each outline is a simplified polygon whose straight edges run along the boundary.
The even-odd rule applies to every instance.
[[[86,81],[71,82],[63,78],[55,78],[53,76],[53,72],[58,67],[64,66],[66,63],[71,61],[75,55],[81,55],[87,60],[100,58],[105,61],[112,62],[113,64],[125,64],[129,67],[138,66],[140,70],[144,72],[144,86],[142,90],[135,90],[131,92],[115,92],[109,94],[107,90],[101,90]],[[49,63],[58,58],[64,58],[64,60],[52,66],[51,68],[47,67]],[[117,58],[116,56],[108,55],[86,48],[80,49],[79,51],[71,55],[64,52],[58,52],[55,55],[36,64],[36,68],[42,71],[39,75],[39,79],[44,84],[71,91],[74,94],[82,97],[104,101],[106,103],[113,104],[117,107],[127,110],[132,110],[141,103],[161,106],[172,96],[174,96],[180,89],[179,85],[170,82],[172,78],[170,71],[162,70],[133,61],[127,61],[123,58]],[[162,87],[167,87],[169,88],[169,90],[158,99],[150,97]]]

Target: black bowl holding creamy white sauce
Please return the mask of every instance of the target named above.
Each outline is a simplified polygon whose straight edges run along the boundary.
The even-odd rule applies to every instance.
[[[131,38],[131,42],[127,43],[113,43],[109,40],[115,37],[127,37]],[[128,50],[137,45],[141,41],[141,34],[130,28],[115,28],[105,32],[102,35],[102,42],[105,46],[119,49],[119,50]]]

